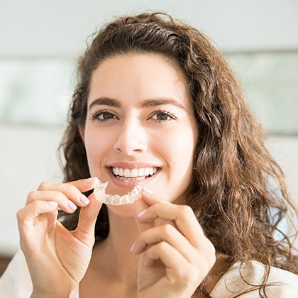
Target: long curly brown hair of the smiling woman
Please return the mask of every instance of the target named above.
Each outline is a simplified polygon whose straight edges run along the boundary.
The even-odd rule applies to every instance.
[[[282,170],[265,148],[260,124],[248,111],[230,67],[208,38],[165,13],[119,17],[92,35],[92,43],[79,59],[77,88],[61,144],[65,182],[90,175],[79,128],[84,128],[87,117],[92,73],[107,57],[126,53],[170,58],[187,79],[199,131],[188,204],[216,251],[233,262],[258,260],[268,265],[268,272],[274,265],[297,273],[292,241],[279,228],[284,219],[290,224],[289,211],[297,216],[297,207],[289,199]],[[65,226],[75,228],[77,216],[78,211],[64,215]],[[96,238],[109,233],[105,208],[95,233]],[[262,291],[265,282],[266,278]]]

